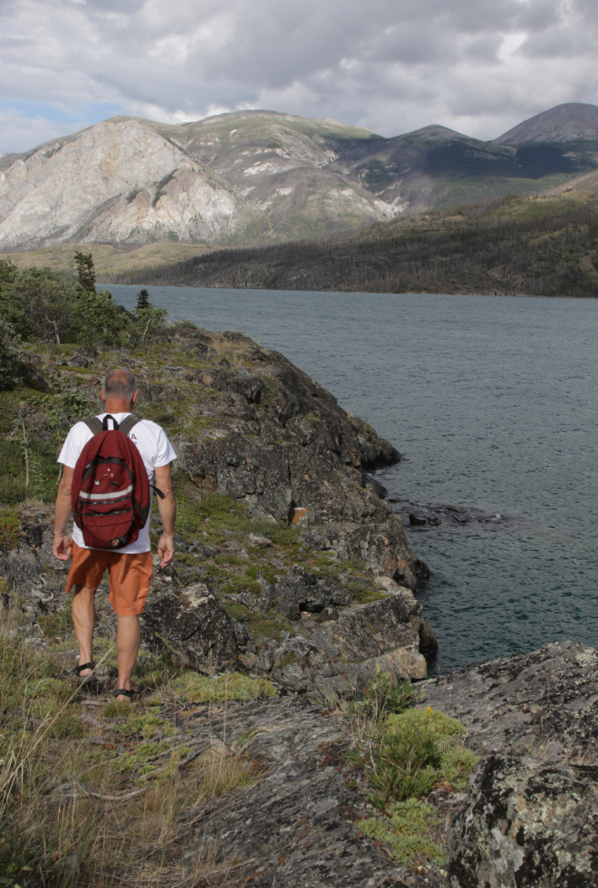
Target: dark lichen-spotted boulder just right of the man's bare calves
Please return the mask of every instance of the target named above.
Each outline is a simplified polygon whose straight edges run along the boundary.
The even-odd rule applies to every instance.
[[[166,649],[187,667],[204,672],[236,667],[235,627],[203,583],[149,598],[140,624],[149,648]]]

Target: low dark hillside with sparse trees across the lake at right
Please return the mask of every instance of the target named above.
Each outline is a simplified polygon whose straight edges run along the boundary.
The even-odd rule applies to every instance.
[[[218,250],[113,283],[598,296],[598,176],[325,242]]]

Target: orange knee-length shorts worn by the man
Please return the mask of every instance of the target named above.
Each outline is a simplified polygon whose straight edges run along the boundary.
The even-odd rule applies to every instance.
[[[77,585],[96,589],[106,568],[114,613],[120,613],[123,617],[143,613],[153,572],[151,552],[119,554],[104,549],[83,549],[73,543],[72,565],[66,581],[67,594]]]

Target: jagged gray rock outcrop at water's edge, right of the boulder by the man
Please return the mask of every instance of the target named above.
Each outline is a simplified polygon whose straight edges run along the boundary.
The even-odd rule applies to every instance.
[[[352,695],[375,679],[378,670],[399,680],[426,677],[421,651],[433,656],[436,640],[421,605],[393,580],[387,578],[379,600],[355,604],[331,577],[317,581],[295,565],[274,594],[294,621],[291,632],[278,641],[269,637],[256,642],[250,632],[240,637],[239,656],[248,670],[323,700]]]

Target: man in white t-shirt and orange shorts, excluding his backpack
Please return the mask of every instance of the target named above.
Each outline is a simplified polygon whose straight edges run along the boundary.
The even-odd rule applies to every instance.
[[[106,404],[106,412],[121,423],[133,410],[137,401],[137,383],[132,373],[126,370],[111,370],[101,389],[101,400]],[[110,422],[110,420],[109,420]],[[72,623],[79,642],[79,666],[75,672],[84,680],[93,673],[92,638],[95,627],[95,592],[106,568],[110,578],[110,603],[117,618],[116,651],[119,667],[117,700],[130,700],[133,692],[130,675],[137,660],[140,646],[139,614],[143,613],[149,592],[152,574],[152,560],[149,545],[149,520],[140,530],[138,539],[118,550],[90,549],[83,542],[80,528],[72,526],[72,544],[66,533],[66,526],[72,517],[71,488],[72,476],[82,449],[92,439],[92,430],[84,422],[77,422],[70,430],[58,457],[64,466],[63,478],[58,487],[54,513],[53,555],[60,561],[67,561],[72,553],[66,592],[73,591]],[[170,463],[176,458],[169,439],[155,422],[141,420],[129,433],[137,445],[140,457],[148,473],[150,483],[155,478],[156,487],[164,494],[159,498],[159,515],[162,521],[162,536],[158,544],[160,567],[166,567],[174,557],[174,526],[177,506],[172,492]],[[151,491],[150,491],[151,492]],[[84,667],[84,668],[82,668]]]

